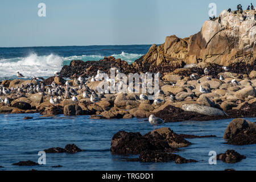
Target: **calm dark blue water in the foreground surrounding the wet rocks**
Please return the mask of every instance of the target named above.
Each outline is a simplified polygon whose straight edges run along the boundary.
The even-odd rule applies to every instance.
[[[23,120],[24,114],[0,114],[0,170],[256,170],[256,144],[232,146],[222,138],[226,126],[232,119],[218,121],[185,121],[166,123],[178,134],[217,135],[216,138],[187,139],[191,146],[176,152],[197,163],[175,164],[127,162],[134,155],[113,155],[110,152],[111,139],[120,130],[146,134],[152,126],[145,119],[89,119],[88,115],[53,118],[39,114],[26,114],[33,117]],[[255,122],[256,118],[246,118]],[[64,147],[75,143],[82,152],[76,154],[46,154],[46,165],[12,166],[21,160],[38,161],[38,152],[50,147]],[[226,150],[236,150],[246,156],[241,162],[227,164],[217,160],[210,165],[209,151],[217,154]],[[61,165],[60,168],[52,166]]]

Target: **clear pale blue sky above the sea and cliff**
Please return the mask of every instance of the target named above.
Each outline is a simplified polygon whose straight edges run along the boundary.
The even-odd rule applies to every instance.
[[[251,0],[2,0],[0,47],[159,44],[199,32],[212,2],[219,14]]]

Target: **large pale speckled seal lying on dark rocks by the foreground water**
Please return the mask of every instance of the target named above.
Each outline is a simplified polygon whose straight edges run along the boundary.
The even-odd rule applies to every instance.
[[[192,111],[204,115],[227,115],[224,111],[215,107],[208,107],[199,104],[184,104],[181,106],[184,111]]]

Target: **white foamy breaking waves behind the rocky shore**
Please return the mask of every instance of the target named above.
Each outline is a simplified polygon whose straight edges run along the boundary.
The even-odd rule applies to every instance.
[[[107,55],[106,55],[107,56]],[[127,63],[133,63],[142,55],[135,53],[122,52],[121,54],[112,55],[115,59],[121,58]],[[25,78],[49,77],[53,76],[55,71],[60,71],[63,65],[69,65],[72,60],[101,60],[104,56],[101,55],[81,55],[61,57],[58,55],[38,56],[36,53],[31,53],[27,57],[15,57],[12,59],[0,59],[0,80],[16,78],[16,72],[22,73]]]

